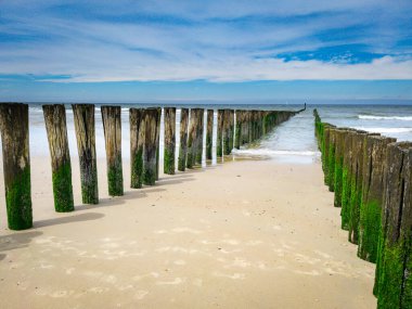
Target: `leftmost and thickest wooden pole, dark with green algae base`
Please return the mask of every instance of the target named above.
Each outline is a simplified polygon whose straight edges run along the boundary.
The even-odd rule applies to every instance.
[[[8,226],[11,230],[33,227],[28,105],[0,104],[3,176]]]

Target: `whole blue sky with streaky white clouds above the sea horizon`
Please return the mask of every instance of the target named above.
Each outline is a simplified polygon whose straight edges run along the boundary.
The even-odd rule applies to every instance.
[[[412,100],[410,0],[0,0],[0,101]]]

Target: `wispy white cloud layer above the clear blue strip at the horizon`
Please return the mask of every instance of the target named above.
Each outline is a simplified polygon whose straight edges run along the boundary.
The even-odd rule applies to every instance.
[[[0,1],[0,74],[55,82],[412,79],[411,16],[407,0]]]

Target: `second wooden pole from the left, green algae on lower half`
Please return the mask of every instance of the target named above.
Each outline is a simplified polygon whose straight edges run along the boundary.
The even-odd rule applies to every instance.
[[[54,209],[57,213],[73,211],[75,205],[66,110],[63,104],[43,105],[42,107],[52,166]]]

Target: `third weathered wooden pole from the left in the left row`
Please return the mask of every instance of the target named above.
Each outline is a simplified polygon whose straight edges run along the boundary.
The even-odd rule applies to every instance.
[[[85,204],[99,204],[94,105],[73,104],[72,108],[80,163],[81,199]]]

